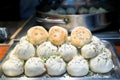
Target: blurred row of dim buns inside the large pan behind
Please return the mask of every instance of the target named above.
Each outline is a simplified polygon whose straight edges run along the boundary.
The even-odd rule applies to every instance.
[[[103,7],[79,7],[79,8],[74,8],[74,7],[67,7],[62,8],[59,7],[56,10],[51,9],[48,11],[48,14],[62,14],[62,15],[75,15],[75,14],[99,14],[99,13],[106,13],[107,10]]]

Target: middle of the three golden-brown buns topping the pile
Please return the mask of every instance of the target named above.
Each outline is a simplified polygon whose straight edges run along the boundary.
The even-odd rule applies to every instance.
[[[61,45],[67,40],[68,32],[66,29],[53,26],[49,30],[49,40],[55,45]]]

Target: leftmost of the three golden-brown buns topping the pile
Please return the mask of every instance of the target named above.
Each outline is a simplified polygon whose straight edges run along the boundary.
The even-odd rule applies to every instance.
[[[34,44],[39,45],[48,38],[48,32],[42,26],[34,26],[27,31],[28,40]]]

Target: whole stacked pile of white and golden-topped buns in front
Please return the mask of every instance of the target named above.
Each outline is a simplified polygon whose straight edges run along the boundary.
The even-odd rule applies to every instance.
[[[47,31],[33,26],[13,48],[2,64],[6,76],[27,77],[86,76],[110,72],[114,66],[112,53],[101,40],[85,27],[76,27],[68,36],[66,29],[53,26]]]

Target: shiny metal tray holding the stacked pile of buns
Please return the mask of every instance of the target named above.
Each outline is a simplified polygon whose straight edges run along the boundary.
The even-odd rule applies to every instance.
[[[0,80],[119,80],[120,79],[120,61],[119,61],[119,56],[115,50],[115,46],[114,44],[106,41],[106,40],[102,40],[102,42],[105,44],[105,46],[111,50],[112,52],[112,60],[114,63],[114,68],[105,74],[97,74],[97,73],[92,73],[92,75],[90,73],[88,73],[88,75],[84,76],[84,77],[71,77],[69,76],[67,73],[63,74],[62,76],[59,77],[51,77],[48,74],[44,74],[42,76],[38,76],[38,77],[26,77],[24,74],[18,76],[18,77],[7,77],[3,74],[2,69],[1,69],[1,65],[2,63],[4,63],[4,61],[6,61],[6,59],[8,58],[9,52],[15,47],[15,45],[18,42],[14,42],[14,44],[10,47],[10,49],[8,50],[8,52],[6,53],[6,56],[4,57],[3,61],[0,63]]]

